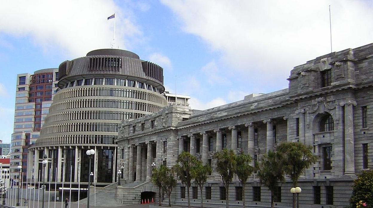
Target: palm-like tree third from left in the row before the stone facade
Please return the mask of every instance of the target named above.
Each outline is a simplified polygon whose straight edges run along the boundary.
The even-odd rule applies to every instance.
[[[193,179],[191,172],[194,171],[197,161],[198,160],[195,156],[183,151],[181,154],[179,154],[178,160],[176,160],[177,164],[173,166],[178,179],[183,185],[186,186],[186,191],[188,194],[188,208],[190,208],[189,188],[191,186],[191,180]]]

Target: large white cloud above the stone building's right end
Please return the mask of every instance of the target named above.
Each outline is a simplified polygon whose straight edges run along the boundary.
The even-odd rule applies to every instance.
[[[369,1],[161,0],[182,22],[221,54],[236,79],[285,86],[289,71],[330,52],[369,44],[373,36]],[[348,29],[346,29],[348,27]]]

